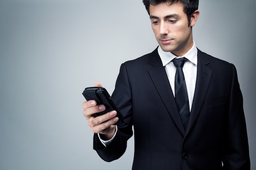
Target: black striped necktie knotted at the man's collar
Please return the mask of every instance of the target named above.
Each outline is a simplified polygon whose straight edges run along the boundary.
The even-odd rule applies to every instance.
[[[180,117],[182,119],[184,128],[186,129],[189,122],[189,97],[186,90],[186,82],[184,78],[184,73],[182,67],[184,62],[188,59],[185,57],[179,59],[173,59],[173,64],[177,67],[175,74],[175,101],[177,108],[180,112]]]

